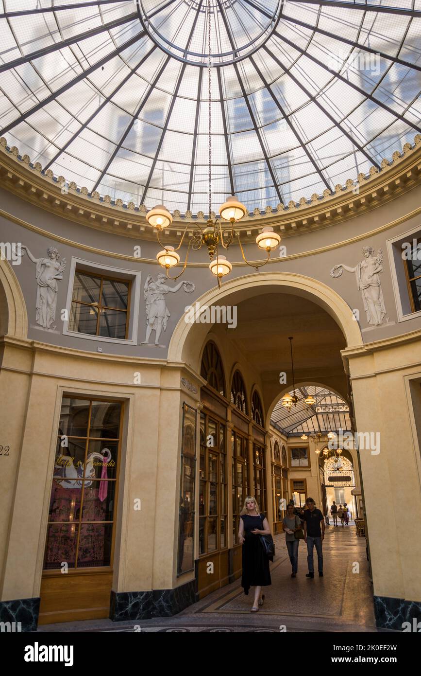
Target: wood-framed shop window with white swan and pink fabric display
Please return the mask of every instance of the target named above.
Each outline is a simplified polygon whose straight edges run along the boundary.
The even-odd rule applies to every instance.
[[[39,624],[109,617],[123,404],[64,395]]]

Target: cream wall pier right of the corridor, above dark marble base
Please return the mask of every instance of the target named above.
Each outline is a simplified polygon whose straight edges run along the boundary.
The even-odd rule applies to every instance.
[[[421,332],[343,355],[358,431],[381,434],[379,454],[360,449],[374,594],[420,601],[421,466],[409,383],[421,375]]]

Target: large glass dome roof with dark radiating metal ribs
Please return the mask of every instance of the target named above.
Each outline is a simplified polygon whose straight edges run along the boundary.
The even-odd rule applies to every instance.
[[[334,193],[421,132],[421,3],[388,1],[2,0],[0,135],[91,193],[206,211],[210,15],[213,204]]]

